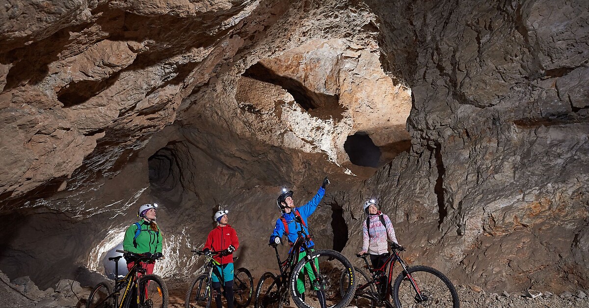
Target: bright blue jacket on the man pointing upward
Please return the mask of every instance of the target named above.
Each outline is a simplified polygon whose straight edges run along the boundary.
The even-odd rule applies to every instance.
[[[311,214],[313,214],[313,212],[315,212],[315,209],[317,209],[317,205],[319,205],[319,202],[321,202],[321,199],[323,199],[324,195],[325,189],[319,188],[317,194],[313,197],[313,199],[311,199],[311,201],[307,202],[307,204],[303,205],[302,207],[296,208],[299,210],[300,218],[303,219],[305,225],[309,225],[307,223],[307,219]],[[276,219],[276,226],[274,227],[272,235],[270,235],[270,243],[274,243],[274,238],[282,237],[282,235],[286,234],[289,243],[294,244],[294,241],[296,241],[297,237],[299,236],[296,234],[296,232],[300,230],[300,225],[297,224],[296,221],[294,221],[294,209],[290,211],[290,213],[288,214],[283,212],[282,217],[286,219],[286,224],[289,226],[289,233],[286,234],[286,230],[284,230],[284,224],[282,222],[282,219]],[[309,229],[305,227],[305,225],[303,225],[303,228],[305,229],[305,232],[309,234]],[[309,245],[309,247],[312,247],[313,245],[315,245],[315,243],[313,243],[313,241],[309,241],[307,245]]]

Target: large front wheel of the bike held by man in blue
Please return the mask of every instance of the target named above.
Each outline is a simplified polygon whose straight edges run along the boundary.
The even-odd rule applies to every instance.
[[[340,287],[340,280],[346,286]],[[289,290],[299,308],[322,307],[323,301],[325,307],[347,307],[356,291],[354,268],[335,250],[313,251],[294,267]]]

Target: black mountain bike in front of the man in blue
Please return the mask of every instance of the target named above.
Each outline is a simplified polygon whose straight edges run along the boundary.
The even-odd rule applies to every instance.
[[[295,220],[301,224],[300,217]],[[268,271],[260,277],[254,298],[255,308],[288,306],[289,295],[299,308],[320,307],[322,298],[325,299],[325,307],[348,307],[356,289],[352,264],[335,250],[311,250],[307,240],[310,240],[310,235],[301,226],[300,231],[297,231],[297,240],[284,261],[280,260],[278,245],[268,244],[276,252],[280,275]],[[297,262],[297,257],[302,253],[305,256]],[[340,278],[347,281],[345,290],[340,290]],[[300,281],[299,286],[297,281]]]

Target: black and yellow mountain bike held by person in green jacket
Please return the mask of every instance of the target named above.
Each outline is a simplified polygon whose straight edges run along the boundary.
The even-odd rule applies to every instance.
[[[129,251],[117,250],[123,253],[118,257],[108,258],[115,264],[114,290],[111,292],[109,284],[102,282],[97,284],[90,296],[86,308],[166,308],[168,307],[168,288],[164,280],[154,274],[145,274],[146,270],[142,263],[155,263],[153,257],[143,254],[135,254]],[[118,279],[118,260],[125,257],[127,260],[134,259],[135,265],[124,278]],[[121,296],[121,291],[123,292]],[[118,301],[121,296],[121,301]]]

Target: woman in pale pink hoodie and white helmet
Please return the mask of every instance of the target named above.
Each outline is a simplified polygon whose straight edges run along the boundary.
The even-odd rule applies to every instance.
[[[370,199],[364,202],[364,212],[366,213],[366,222],[362,226],[362,250],[358,254],[370,254],[370,262],[372,268],[377,269],[385,265],[386,258],[389,257],[389,243],[391,240],[397,244],[395,237],[395,229],[391,223],[391,219],[385,214],[382,214],[376,208],[376,201]],[[382,277],[381,285],[386,285],[386,277]],[[386,291],[386,290],[380,290]]]

